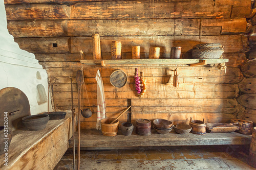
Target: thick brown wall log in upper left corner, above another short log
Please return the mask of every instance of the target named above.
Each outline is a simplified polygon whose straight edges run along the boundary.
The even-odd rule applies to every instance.
[[[55,4],[6,5],[7,20],[70,19],[71,7]]]

